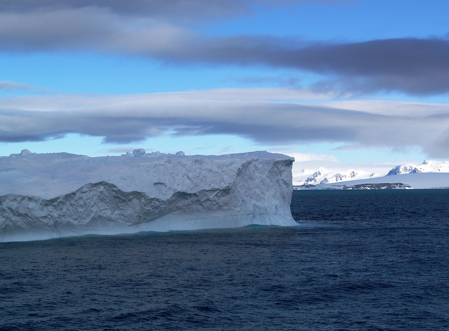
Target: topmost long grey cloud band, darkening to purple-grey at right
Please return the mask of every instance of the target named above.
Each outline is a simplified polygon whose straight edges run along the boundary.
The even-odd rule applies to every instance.
[[[214,37],[202,35],[180,19],[235,15],[250,12],[254,5],[301,2],[0,0],[0,50],[84,50],[166,63],[291,68],[298,74],[321,75],[314,88],[322,91],[449,92],[449,40],[445,38],[338,43],[305,42],[294,37]]]

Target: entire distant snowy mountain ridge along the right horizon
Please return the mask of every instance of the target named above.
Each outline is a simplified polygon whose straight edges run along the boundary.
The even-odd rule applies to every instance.
[[[367,179],[374,177],[383,177],[383,176],[391,176],[395,174],[410,174],[410,173],[427,173],[427,172],[449,172],[449,161],[431,161],[426,160],[422,164],[414,165],[414,164],[403,164],[397,165],[392,170],[390,170],[387,174],[385,173],[374,173],[367,172],[364,170],[329,170],[324,167],[319,167],[317,171],[313,174],[309,175],[307,178],[305,177],[305,170],[303,170],[304,176],[300,176],[296,178],[296,183],[299,185],[317,185],[317,184],[326,184],[326,183],[338,183],[342,181],[348,180],[357,180],[357,179]],[[309,172],[310,174],[310,172]]]

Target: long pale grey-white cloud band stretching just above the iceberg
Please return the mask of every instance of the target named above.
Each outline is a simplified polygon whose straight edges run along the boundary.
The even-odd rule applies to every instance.
[[[310,96],[310,91],[279,88],[2,98],[0,141],[35,141],[67,133],[102,136],[116,143],[173,132],[236,134],[273,145],[339,142],[418,147],[429,157],[449,157],[446,104],[433,104],[430,111],[413,116],[406,110],[390,115],[387,109],[370,112],[300,103],[304,95]],[[288,99],[297,103],[277,101]]]

